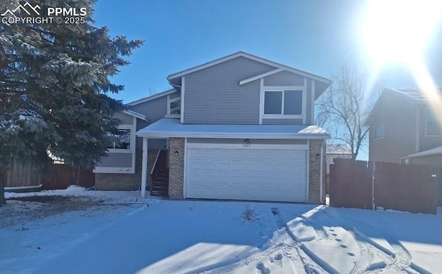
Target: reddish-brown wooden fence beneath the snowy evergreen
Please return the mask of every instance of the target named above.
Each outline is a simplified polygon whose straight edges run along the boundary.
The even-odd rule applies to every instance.
[[[4,186],[38,186],[43,189],[65,189],[72,184],[90,188],[95,186],[95,174],[92,170],[84,170],[67,164],[50,164],[41,171],[30,166],[13,164],[3,176]]]

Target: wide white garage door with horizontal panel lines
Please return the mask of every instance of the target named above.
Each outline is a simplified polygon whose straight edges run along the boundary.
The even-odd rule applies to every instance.
[[[188,148],[186,197],[306,202],[306,150]]]

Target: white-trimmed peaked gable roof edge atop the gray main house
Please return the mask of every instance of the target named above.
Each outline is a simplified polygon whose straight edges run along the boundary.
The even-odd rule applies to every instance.
[[[214,61],[210,61],[208,63],[204,63],[204,64],[202,64],[200,66],[195,66],[193,68],[189,68],[187,70],[183,70],[181,72],[174,73],[173,75],[169,75],[167,77],[167,79],[169,81],[171,81],[172,79],[175,79],[175,78],[178,78],[178,77],[182,77],[184,75],[188,75],[188,74],[190,74],[192,72],[196,72],[198,70],[203,70],[204,68],[209,68],[211,66],[218,65],[218,63],[223,63],[225,61],[229,61],[229,60],[235,59],[237,57],[244,57],[244,58],[247,58],[247,59],[251,59],[253,61],[258,61],[260,63],[265,63],[265,64],[267,64],[269,66],[273,66],[274,68],[276,68],[276,70],[278,70],[276,72],[275,72],[275,70],[272,70],[273,73],[277,73],[277,72],[280,72],[282,70],[287,70],[288,72],[293,72],[293,73],[296,73],[298,75],[302,75],[304,77],[309,77],[311,79],[314,79],[314,80],[317,80],[317,81],[321,81],[321,82],[323,82],[325,84],[332,84],[332,80],[327,79],[325,77],[320,77],[318,75],[314,75],[314,74],[311,74],[309,72],[305,72],[303,70],[298,70],[296,68],[291,68],[289,66],[282,65],[281,63],[276,63],[276,62],[273,62],[273,61],[270,61],[270,60],[267,60],[267,59],[264,59],[264,58],[261,58],[261,57],[257,57],[255,55],[251,55],[251,54],[249,54],[247,52],[242,52],[242,51],[236,52],[233,55],[229,55],[229,56],[226,56],[226,57],[222,57],[220,59],[216,59]],[[258,77],[258,75],[256,77]],[[254,77],[251,77],[251,78],[254,78]],[[257,78],[257,79],[259,79],[259,78]],[[244,82],[246,80],[248,80],[248,79],[244,79],[241,82]],[[254,80],[251,80],[251,81],[254,81]],[[245,84],[245,83],[242,83],[242,84]]]

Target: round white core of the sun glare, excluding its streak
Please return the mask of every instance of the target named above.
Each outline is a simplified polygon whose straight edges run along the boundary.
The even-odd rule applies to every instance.
[[[441,15],[440,0],[372,0],[363,26],[367,51],[378,66],[415,60]]]

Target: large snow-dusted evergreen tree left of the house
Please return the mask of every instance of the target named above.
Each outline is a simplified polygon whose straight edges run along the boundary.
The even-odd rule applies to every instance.
[[[19,5],[7,2],[0,3],[1,12]],[[119,121],[112,117],[124,105],[108,93],[124,87],[109,78],[128,65],[124,57],[143,41],[111,38],[108,28],[94,27],[94,3],[32,1],[42,10],[86,8],[84,23],[0,22],[0,174],[14,161],[43,168],[51,162],[48,153],[93,168],[118,134]]]

